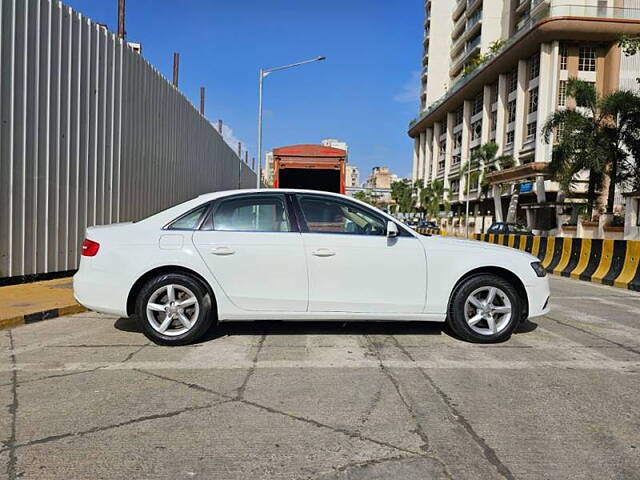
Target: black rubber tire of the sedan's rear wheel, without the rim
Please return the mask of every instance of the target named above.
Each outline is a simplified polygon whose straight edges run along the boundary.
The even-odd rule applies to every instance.
[[[192,310],[195,317],[195,319],[191,318],[192,326],[181,334],[166,335],[161,333],[152,326],[152,322],[147,316],[149,299],[155,292],[167,285],[186,288],[197,299],[198,312],[195,315]],[[211,293],[200,280],[184,273],[166,273],[149,280],[138,294],[135,312],[145,336],[158,345],[177,346],[193,343],[202,337],[216,321]],[[179,328],[176,330],[179,331]]]

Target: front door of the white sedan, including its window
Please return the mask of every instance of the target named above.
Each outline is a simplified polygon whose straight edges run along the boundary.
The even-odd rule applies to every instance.
[[[403,232],[387,238],[386,218],[355,202],[328,195],[296,197],[310,312],[423,311],[426,259],[416,237]]]

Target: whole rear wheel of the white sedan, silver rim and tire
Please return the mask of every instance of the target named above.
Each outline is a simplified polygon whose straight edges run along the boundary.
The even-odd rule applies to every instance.
[[[211,294],[200,280],[167,273],[140,290],[136,314],[142,331],[158,345],[186,345],[200,338],[214,321]]]

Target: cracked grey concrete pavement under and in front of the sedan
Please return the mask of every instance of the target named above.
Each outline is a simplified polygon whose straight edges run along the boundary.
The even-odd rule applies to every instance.
[[[0,478],[640,478],[640,294],[552,278],[501,345],[438,324],[95,313],[0,332]]]

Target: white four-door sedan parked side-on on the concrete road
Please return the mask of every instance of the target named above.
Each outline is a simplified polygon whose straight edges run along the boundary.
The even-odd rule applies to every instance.
[[[537,258],[483,242],[423,236],[343,195],[217,192],[139,222],[90,227],[74,295],[135,315],[151,340],[183,345],[217,322],[448,322],[499,342],[549,311]]]

